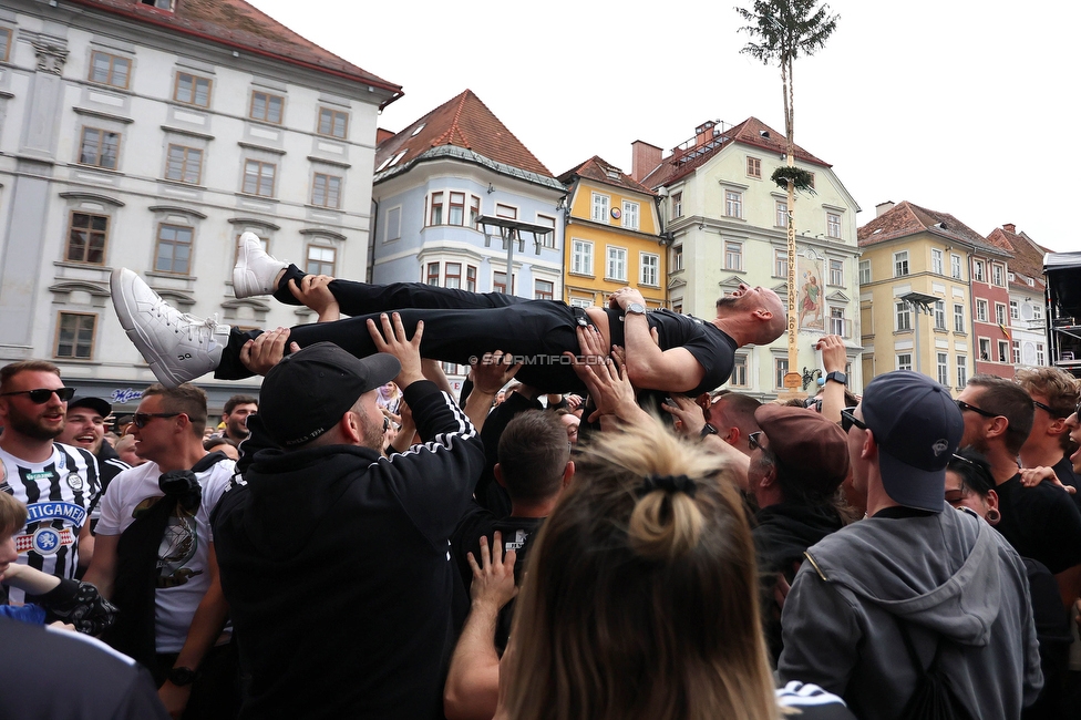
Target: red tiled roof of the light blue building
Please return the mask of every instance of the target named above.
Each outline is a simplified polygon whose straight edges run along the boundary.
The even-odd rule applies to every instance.
[[[472,150],[490,161],[546,177],[552,173],[514,136],[472,90],[446,101],[409,127],[383,141],[375,148],[375,167],[402,151],[395,166],[424,154],[432,147],[454,145]]]

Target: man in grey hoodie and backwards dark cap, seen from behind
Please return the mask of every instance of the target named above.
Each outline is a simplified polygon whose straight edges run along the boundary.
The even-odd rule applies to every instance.
[[[937,656],[968,717],[1020,717],[1043,683],[1025,565],[986,522],[945,504],[964,432],[949,391],[912,371],[879,376],[842,429],[868,517],[806,552],[781,616],[781,680],[892,718]]]

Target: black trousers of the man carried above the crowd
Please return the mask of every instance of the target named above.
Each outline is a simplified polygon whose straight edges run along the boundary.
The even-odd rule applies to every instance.
[[[289,291],[288,282],[299,285],[305,274],[295,265],[286,270],[275,298],[287,305],[301,305]],[[379,323],[381,312],[397,311],[410,337],[421,320],[424,335],[421,354],[443,362],[470,364],[485,352],[503,350],[519,356],[523,368],[517,378],[543,392],[584,392],[564,352],[578,352],[575,329],[587,323],[585,312],[556,300],[526,300],[502,292],[467,292],[422,282],[368,285],[333,280],[329,289],[343,315],[337,322],[296,326],[289,340],[301,348],[316,342],[333,342],[347,352],[364,358],[374,354],[375,343],[368,331],[368,319]],[[223,380],[248,378],[240,363],[240,348],[261,330],[241,332],[236,328],[214,376]]]

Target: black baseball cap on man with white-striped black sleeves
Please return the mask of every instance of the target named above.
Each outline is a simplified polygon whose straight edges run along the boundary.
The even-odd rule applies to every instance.
[[[317,342],[286,356],[267,373],[259,391],[259,416],[279,445],[302,445],[333,428],[358,398],[401,370],[392,354],[357,358],[333,342]]]

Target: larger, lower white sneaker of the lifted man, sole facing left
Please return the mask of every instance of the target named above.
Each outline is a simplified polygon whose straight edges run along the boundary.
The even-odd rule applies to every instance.
[[[163,385],[175,388],[222,362],[229,326],[218,325],[217,316],[181,312],[127,268],[113,270],[109,287],[120,323]]]

